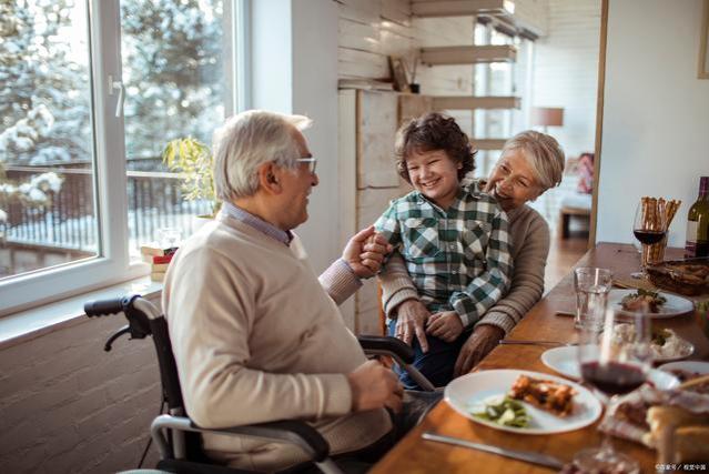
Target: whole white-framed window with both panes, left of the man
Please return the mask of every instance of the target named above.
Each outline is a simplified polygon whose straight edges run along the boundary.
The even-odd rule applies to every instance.
[[[244,4],[0,3],[0,314],[145,273],[141,243],[191,232],[206,203],[161,152],[236,110]]]

